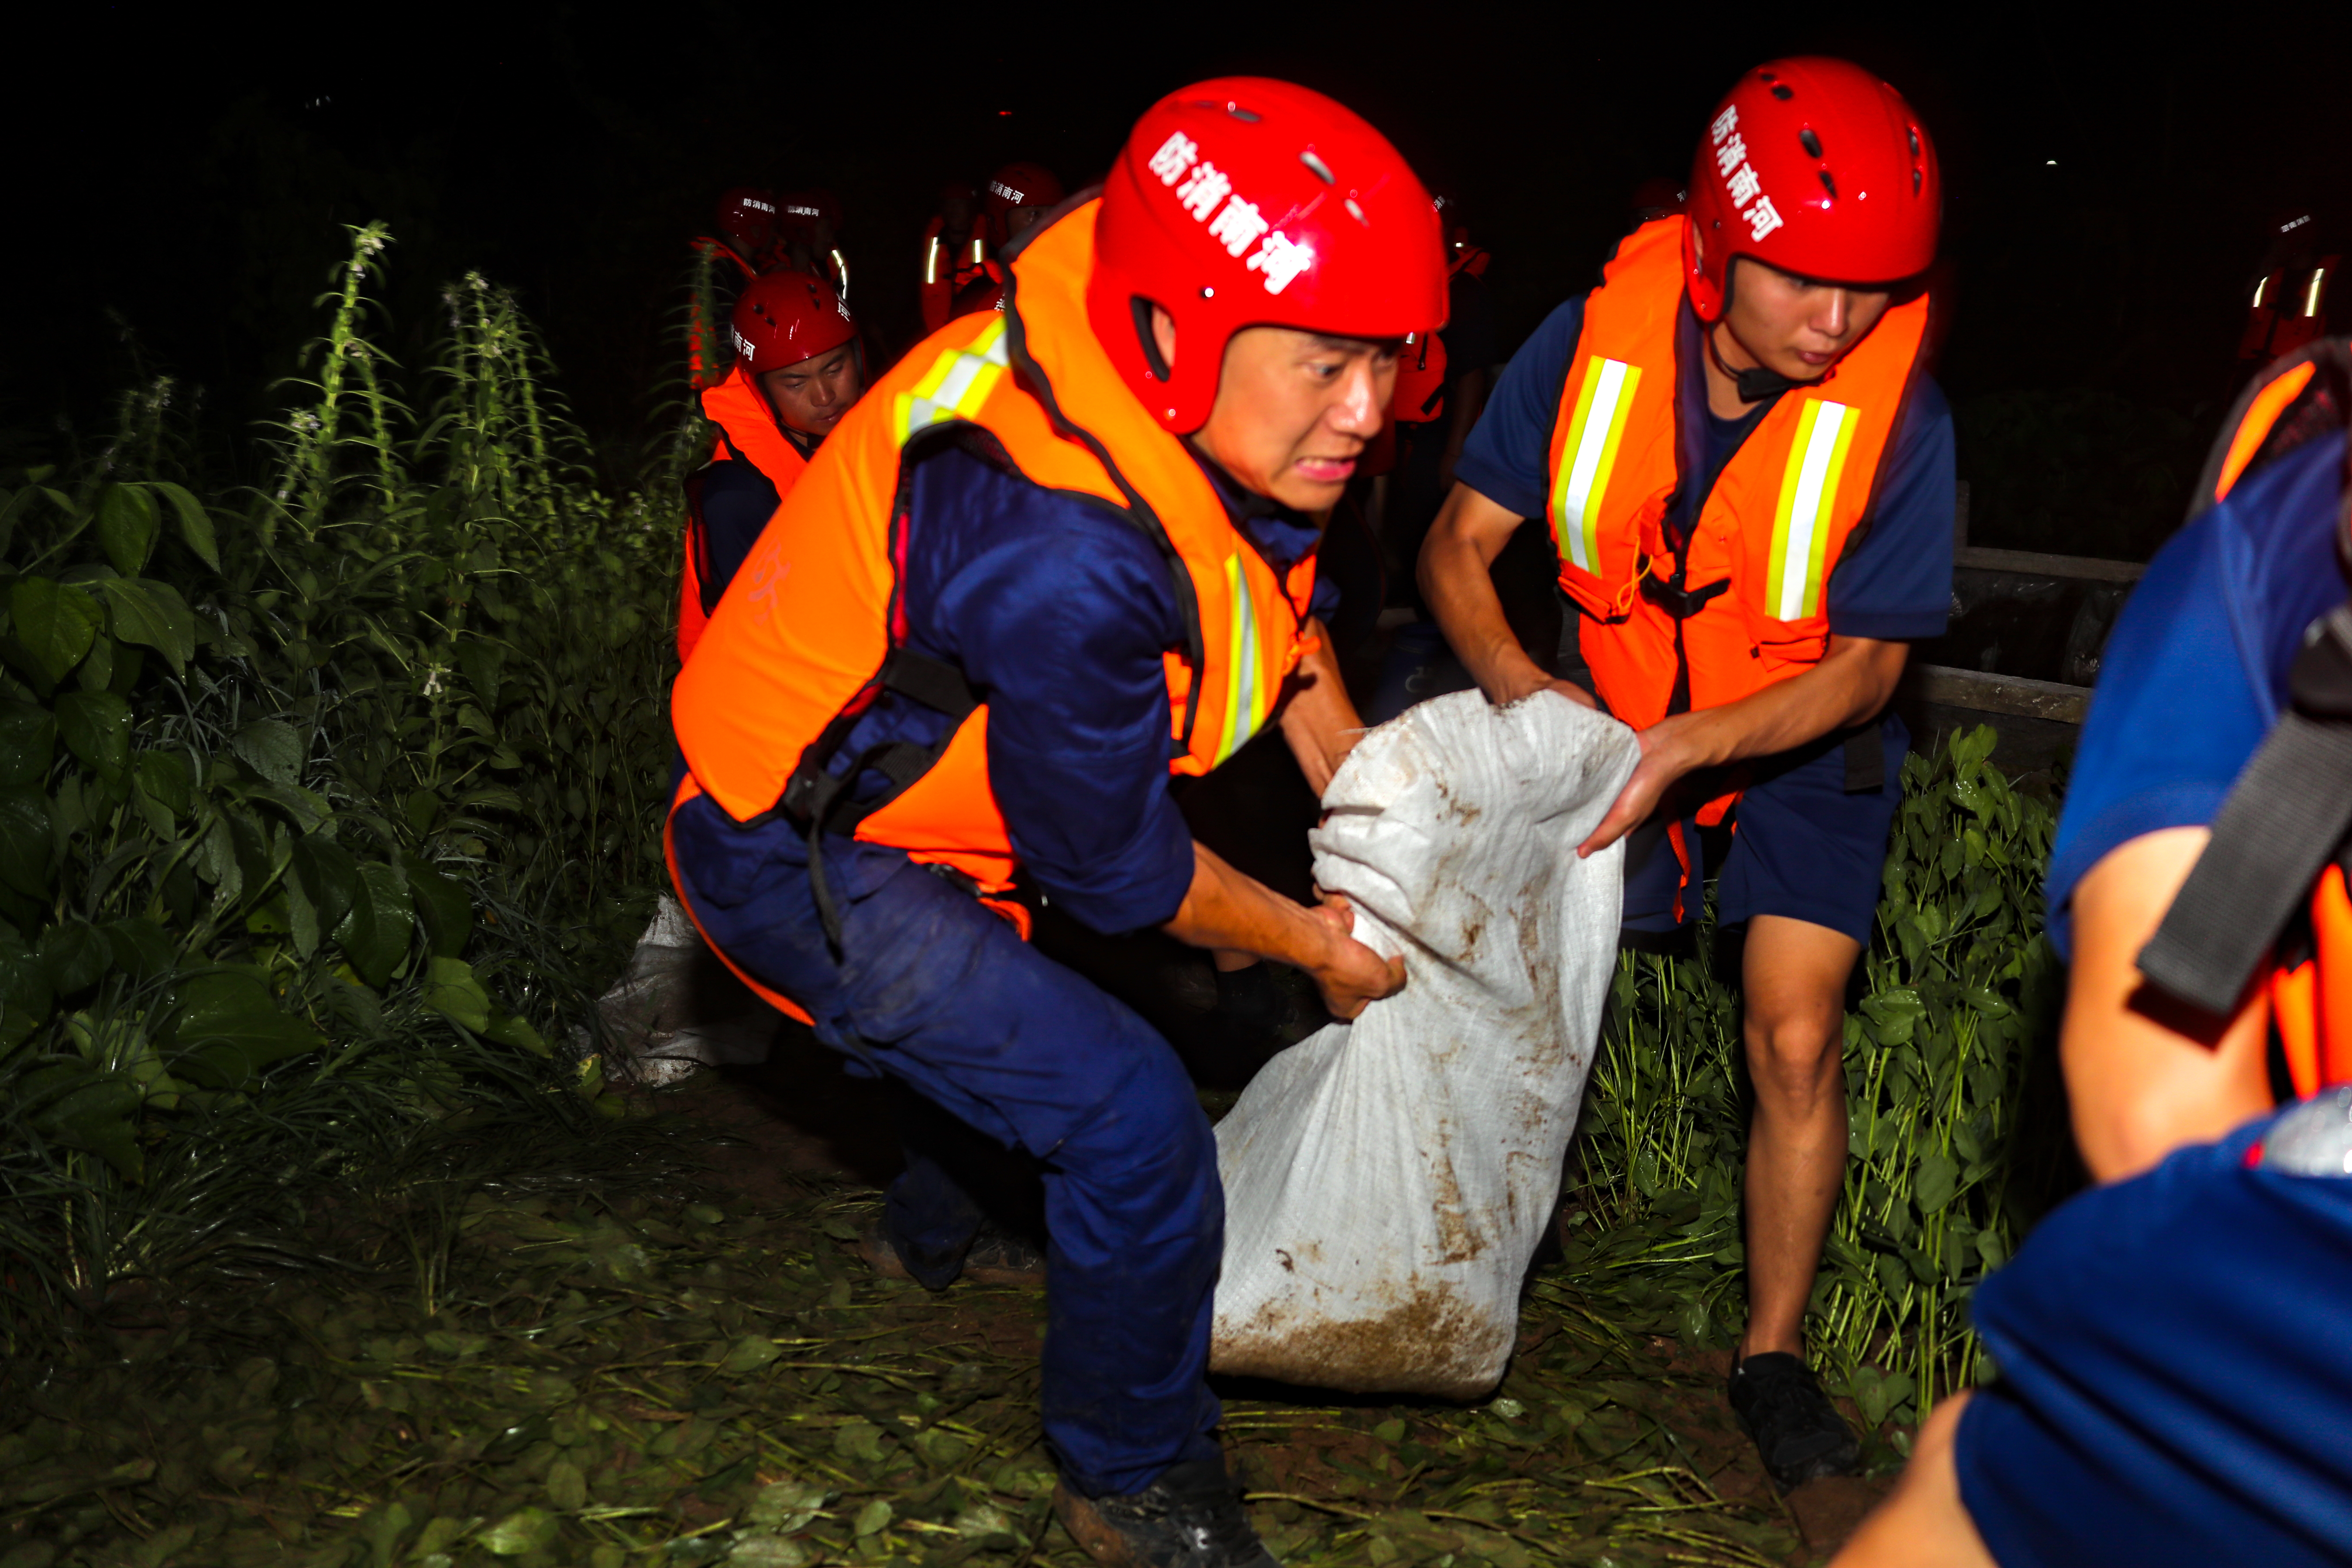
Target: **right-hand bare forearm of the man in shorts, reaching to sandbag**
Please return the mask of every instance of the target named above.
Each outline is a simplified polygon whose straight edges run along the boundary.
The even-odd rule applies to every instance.
[[[1590,856],[1632,832],[1658,806],[1658,797],[1696,769],[1745,757],[1771,757],[1818,741],[1832,729],[1860,724],[1896,693],[1907,642],[1877,637],[1830,637],[1830,651],[1804,675],[1773,682],[1722,708],[1677,712],[1642,731],[1642,762],[1618,790],[1609,816],[1576,853]]]

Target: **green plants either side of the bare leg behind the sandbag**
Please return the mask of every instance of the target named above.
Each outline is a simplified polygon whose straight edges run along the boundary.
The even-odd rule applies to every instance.
[[[2018,1105],[2063,976],[2042,936],[2053,813],[1992,766],[1994,733],[1903,764],[1877,940],[1846,1013],[1846,1187],[1809,1335],[1867,1425],[1910,1425],[1987,1368],[1969,1291],[2018,1246]],[[1590,1286],[1684,1342],[1743,1312],[1740,1009],[1712,950],[1625,954],[1592,1067],[1585,1211],[1569,1248]]]

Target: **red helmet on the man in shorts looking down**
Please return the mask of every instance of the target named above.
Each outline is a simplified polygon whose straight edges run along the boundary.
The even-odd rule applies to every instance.
[[[1830,282],[1917,277],[1943,221],[1936,143],[1903,94],[1860,66],[1776,59],[1715,110],[1689,212],[1682,259],[1708,322],[1724,310],[1733,256]]]

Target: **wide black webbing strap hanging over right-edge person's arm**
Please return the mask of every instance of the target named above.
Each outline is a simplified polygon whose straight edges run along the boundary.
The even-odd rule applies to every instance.
[[[2237,1009],[2352,827],[2352,604],[2312,623],[2288,684],[2293,712],[2237,776],[2190,879],[2140,947],[2152,985],[2216,1018]]]

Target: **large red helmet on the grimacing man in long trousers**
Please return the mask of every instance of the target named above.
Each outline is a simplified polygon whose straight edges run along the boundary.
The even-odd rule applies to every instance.
[[[1160,364],[1150,310],[1176,317]],[[1200,430],[1242,327],[1402,339],[1446,320],[1430,193],[1352,110],[1265,78],[1155,103],[1127,136],[1094,226],[1087,317],[1160,423]]]

